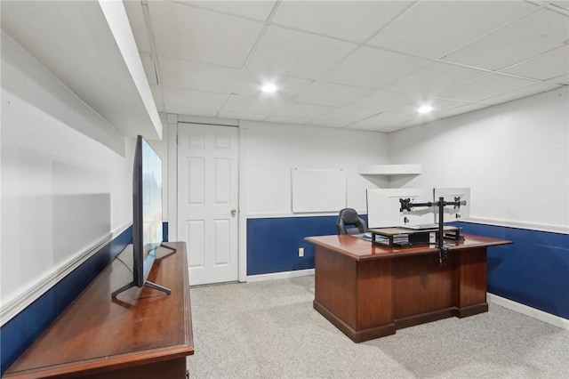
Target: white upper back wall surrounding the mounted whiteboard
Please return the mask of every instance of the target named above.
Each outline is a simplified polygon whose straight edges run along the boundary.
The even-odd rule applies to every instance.
[[[343,170],[347,179],[347,206],[365,212],[365,189],[376,184],[359,173],[359,165],[389,163],[385,133],[242,122],[241,167],[249,217],[292,214],[291,170]],[[243,188],[243,187],[242,187]]]

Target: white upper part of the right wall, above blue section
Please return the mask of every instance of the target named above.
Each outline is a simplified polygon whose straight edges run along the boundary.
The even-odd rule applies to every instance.
[[[470,215],[569,230],[569,96],[541,93],[389,134],[394,163],[422,163],[392,187],[470,187]]]

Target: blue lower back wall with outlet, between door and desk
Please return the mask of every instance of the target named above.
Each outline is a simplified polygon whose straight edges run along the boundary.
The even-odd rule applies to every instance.
[[[367,215],[361,217],[367,221]],[[247,275],[314,269],[309,236],[338,234],[338,216],[278,217],[247,220]],[[304,247],[304,257],[299,257]]]

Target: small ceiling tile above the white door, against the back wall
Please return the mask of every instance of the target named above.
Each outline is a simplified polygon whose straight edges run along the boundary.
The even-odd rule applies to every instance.
[[[214,117],[227,95],[164,87],[164,111],[180,115]]]

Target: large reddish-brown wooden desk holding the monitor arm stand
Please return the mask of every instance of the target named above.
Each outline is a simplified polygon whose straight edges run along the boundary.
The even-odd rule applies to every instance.
[[[438,263],[433,246],[389,248],[348,235],[305,238],[315,249],[314,308],[354,342],[488,310],[486,247],[511,241],[465,235]]]

